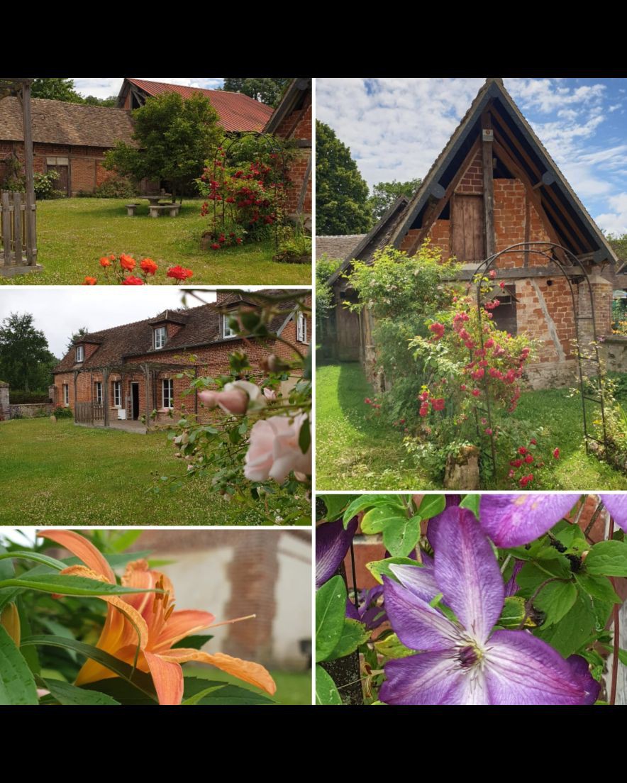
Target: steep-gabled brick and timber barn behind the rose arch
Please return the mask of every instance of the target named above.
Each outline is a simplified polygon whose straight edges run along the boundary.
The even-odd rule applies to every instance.
[[[330,278],[336,307],[326,324],[327,351],[340,360],[361,361],[379,389],[385,379],[377,371],[373,318],[367,309],[358,315],[341,305],[356,301],[346,276],[353,259],[371,262],[374,252],[387,245],[413,255],[427,239],[443,258],[455,256],[462,264],[459,277],[467,281],[480,262],[513,244],[567,248],[589,277],[597,337],[611,335],[614,251],[501,79],[488,79],[481,87],[413,197],[400,197],[366,235],[316,239],[316,254],[344,258]],[[589,341],[591,304],[578,262],[557,249],[545,258],[533,247],[538,246],[503,254],[495,262],[497,280],[505,288],[493,316],[500,329],[539,341],[528,379],[534,388],[544,388],[570,383],[577,361],[571,341],[575,327],[580,341]]]

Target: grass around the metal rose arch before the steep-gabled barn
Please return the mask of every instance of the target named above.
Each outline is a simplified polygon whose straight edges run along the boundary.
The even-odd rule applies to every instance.
[[[364,398],[373,396],[358,363],[319,366],[316,373],[316,489],[438,489],[405,451],[402,436],[373,420]],[[559,446],[542,482],[533,489],[627,489],[627,478],[586,454],[582,409],[568,390],[528,391],[513,415],[543,427]],[[591,410],[591,418],[598,411]],[[499,481],[488,489],[510,489],[509,456],[499,463]]]

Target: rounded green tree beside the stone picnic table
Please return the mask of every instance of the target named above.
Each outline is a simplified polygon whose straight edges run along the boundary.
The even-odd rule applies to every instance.
[[[174,203],[200,177],[204,161],[222,139],[218,114],[201,92],[187,99],[166,92],[149,98],[133,117],[139,148],[118,142],[106,153],[104,167],[137,182],[144,177],[166,180]]]

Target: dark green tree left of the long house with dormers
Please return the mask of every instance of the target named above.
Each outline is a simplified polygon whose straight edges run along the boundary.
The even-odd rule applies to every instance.
[[[31,313],[12,312],[0,327],[0,378],[13,389],[47,391],[57,359]]]

